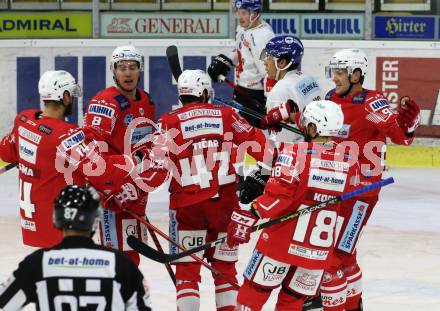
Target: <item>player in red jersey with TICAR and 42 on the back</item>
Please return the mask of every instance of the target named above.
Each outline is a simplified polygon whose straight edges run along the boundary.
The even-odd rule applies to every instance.
[[[183,107],[161,117],[153,150],[161,148],[159,142],[173,139],[174,147],[165,147],[169,152],[167,166],[173,174],[169,189],[170,237],[192,248],[226,235],[231,213],[238,204],[238,177],[232,165],[235,156],[242,158],[247,151],[261,161],[266,140],[260,130],[231,108],[208,103],[213,90],[204,71],[185,70],[177,88]],[[165,136],[170,138],[161,139]],[[177,249],[171,246],[170,252],[176,253]],[[235,279],[237,247],[217,245],[204,256],[220,273]],[[199,310],[201,265],[189,257],[175,265],[177,309]],[[217,310],[234,310],[237,291],[224,279],[213,277]]]

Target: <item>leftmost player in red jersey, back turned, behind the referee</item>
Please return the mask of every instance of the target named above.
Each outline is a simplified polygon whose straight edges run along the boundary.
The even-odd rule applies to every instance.
[[[64,118],[73,109],[81,88],[66,71],[47,71],[38,84],[44,109],[29,109],[17,115],[14,127],[0,144],[0,158],[18,163],[20,215],[23,243],[50,247],[62,238],[52,224],[52,205],[66,184],[87,181],[99,190],[118,191],[128,172],[124,156],[100,156],[85,132]],[[129,159],[127,159],[129,160]],[[129,160],[131,161],[131,160]]]

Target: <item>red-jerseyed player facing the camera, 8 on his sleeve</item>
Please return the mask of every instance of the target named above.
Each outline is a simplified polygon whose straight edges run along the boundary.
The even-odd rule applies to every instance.
[[[84,126],[91,129],[95,139],[104,141],[108,154],[131,154],[145,147],[152,133],[155,106],[150,96],[137,87],[144,70],[143,56],[133,46],[117,47],[112,54],[110,70],[115,86],[99,92],[90,101],[84,117]],[[148,193],[134,184],[127,184],[120,194],[122,208],[145,215]],[[105,204],[101,221],[101,239],[104,245],[127,252],[139,263],[139,254],[125,242],[127,232],[144,239],[145,228],[128,213],[116,213]]]

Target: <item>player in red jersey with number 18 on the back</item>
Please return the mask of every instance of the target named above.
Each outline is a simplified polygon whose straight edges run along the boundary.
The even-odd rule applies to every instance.
[[[248,242],[250,227],[259,218],[280,217],[350,189],[357,166],[349,162],[350,150],[332,140],[343,120],[339,105],[330,101],[304,108],[301,123],[309,142],[281,146],[264,194],[248,210],[232,214],[229,244]],[[339,207],[328,205],[263,230],[244,272],[237,310],[262,310],[280,285],[275,310],[302,309],[306,297],[319,289],[329,264]]]

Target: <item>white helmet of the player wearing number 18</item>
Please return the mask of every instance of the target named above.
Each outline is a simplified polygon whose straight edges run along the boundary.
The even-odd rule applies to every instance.
[[[301,123],[304,128],[310,123],[315,124],[319,136],[336,136],[344,124],[344,113],[330,100],[312,101],[304,108]]]

